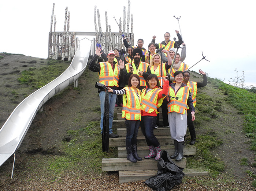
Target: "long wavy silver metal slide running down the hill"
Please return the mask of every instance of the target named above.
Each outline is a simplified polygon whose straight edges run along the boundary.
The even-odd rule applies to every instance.
[[[29,95],[11,113],[0,129],[0,166],[13,154],[15,162],[15,151],[20,147],[27,130],[42,105],[71,83],[77,83],[76,80],[84,72],[88,62],[90,46],[88,47],[85,52],[77,50],[70,66],[64,73]],[[13,169],[14,163],[12,175]]]

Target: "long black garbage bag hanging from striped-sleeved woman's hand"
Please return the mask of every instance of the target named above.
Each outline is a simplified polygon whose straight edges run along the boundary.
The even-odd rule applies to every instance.
[[[109,145],[109,133],[110,133],[110,121],[109,121],[109,106],[108,106],[108,89],[107,87],[99,82],[96,82],[95,87],[99,91],[105,91],[105,103],[104,103],[104,116],[103,116],[103,129],[102,129],[102,152],[108,152]]]

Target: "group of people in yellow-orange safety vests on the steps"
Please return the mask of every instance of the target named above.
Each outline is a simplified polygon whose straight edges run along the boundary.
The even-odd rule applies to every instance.
[[[159,160],[161,145],[154,135],[154,129],[159,125],[159,111],[162,107],[163,126],[170,128],[171,139],[174,140],[175,152],[170,157],[177,161],[183,159],[184,137],[187,126],[191,136],[190,144],[196,142],[196,131],[193,125],[195,120],[197,87],[207,84],[206,74],[202,83],[190,82],[188,65],[183,63],[186,58],[186,46],[182,42],[179,31],[175,31],[178,42],[170,40],[170,33],[164,34],[165,40],[156,44],[153,36],[147,51],[143,39],[138,40],[138,46],[130,46],[126,38],[123,42],[127,48],[127,56],[123,51],[114,49],[106,55],[100,47],[96,48],[89,69],[99,73],[99,82],[108,89],[109,96],[109,136],[118,137],[113,133],[112,121],[116,105],[122,102],[122,117],[126,124],[126,151],[127,159],[131,162],[142,160],[137,154],[137,133],[141,128],[149,154],[145,159],[155,157]],[[175,48],[183,46],[181,55],[176,54]],[[175,56],[176,54],[176,56]],[[104,62],[99,62],[99,57]],[[175,58],[174,58],[175,56]],[[170,75],[168,75],[170,74]],[[99,90],[101,106],[101,132],[103,129],[103,115],[105,92]],[[117,96],[119,100],[117,101]]]

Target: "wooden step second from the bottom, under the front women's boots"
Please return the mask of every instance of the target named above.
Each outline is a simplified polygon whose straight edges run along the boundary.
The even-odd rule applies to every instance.
[[[179,167],[186,168],[187,161],[182,159],[181,161],[175,161],[174,163]],[[157,169],[157,160],[142,159],[136,163],[132,163],[127,158],[110,158],[102,159],[101,170],[102,171],[128,171],[128,170],[152,170]]]

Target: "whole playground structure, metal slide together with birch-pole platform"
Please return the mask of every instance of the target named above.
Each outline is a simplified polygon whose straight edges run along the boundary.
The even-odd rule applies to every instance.
[[[130,1],[128,1],[130,6]],[[130,10],[130,8],[129,8]],[[49,48],[48,48],[48,57],[52,59],[61,59],[66,61],[71,61],[70,66],[63,74],[57,77],[52,82],[48,83],[44,87],[41,87],[31,95],[29,95],[25,100],[23,100],[11,113],[10,117],[8,117],[7,121],[5,121],[4,125],[0,129],[0,166],[12,155],[14,155],[14,162],[12,167],[13,176],[14,164],[15,164],[15,152],[20,147],[26,133],[36,116],[38,110],[42,108],[42,105],[45,104],[51,97],[57,94],[59,91],[66,88],[68,85],[74,82],[74,86],[77,87],[77,79],[84,72],[88,60],[89,55],[94,54],[95,44],[101,43],[103,50],[113,50],[114,48],[122,48],[122,34],[120,32],[111,33],[111,27],[108,26],[106,32],[101,31],[100,26],[100,16],[99,9],[98,13],[98,21],[99,21],[99,32],[97,32],[97,23],[96,23],[96,6],[94,9],[94,20],[96,32],[70,32],[69,31],[69,17],[70,12],[65,13],[65,24],[63,32],[56,32],[56,19],[54,24],[54,31],[52,32],[52,24],[53,24],[53,13],[54,13],[54,3],[51,17],[51,29],[49,32]],[[129,13],[130,14],[130,13]],[[107,12],[106,15],[106,23],[107,23]],[[125,19],[125,7],[124,7],[124,19]],[[129,19],[128,19],[129,21]],[[129,22],[127,22],[129,23]],[[106,24],[107,25],[107,24]],[[120,24],[121,26],[121,18]],[[129,26],[129,24],[127,24]],[[132,25],[131,25],[132,26]],[[66,31],[67,28],[67,31]],[[125,30],[125,23],[124,23]],[[121,29],[120,29],[121,31]],[[95,36],[91,40],[91,44],[86,46],[86,50],[81,52],[79,50],[79,40],[76,38],[78,35],[85,36]],[[127,27],[127,33],[125,35],[133,36],[133,33],[129,33],[129,27]],[[132,38],[130,38],[132,39]]]

